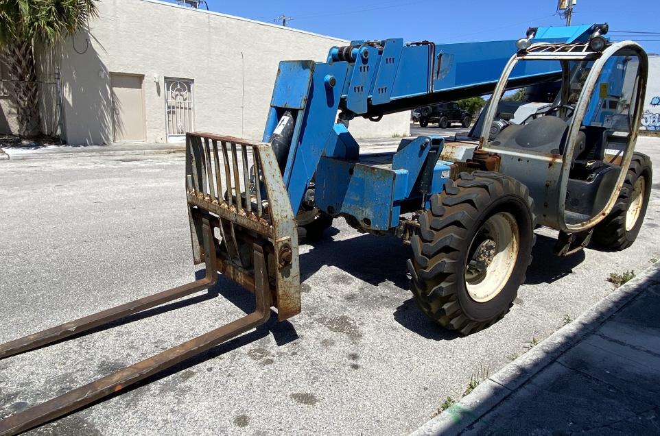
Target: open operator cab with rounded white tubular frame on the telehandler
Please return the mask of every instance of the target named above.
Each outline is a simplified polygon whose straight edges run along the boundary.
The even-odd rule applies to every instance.
[[[515,83],[507,80],[512,71],[534,71],[540,62],[561,64],[551,104],[531,99],[524,88],[512,90]],[[502,171],[528,185],[541,223],[576,231],[609,212],[633,152],[631,126],[641,110],[638,84],[646,62],[635,43],[602,51],[584,43],[539,44],[510,61],[493,94],[499,98],[491,99],[497,105],[488,108],[484,123],[491,129],[482,128],[481,143],[501,156]],[[521,96],[526,98],[515,114],[504,112],[506,100]]]

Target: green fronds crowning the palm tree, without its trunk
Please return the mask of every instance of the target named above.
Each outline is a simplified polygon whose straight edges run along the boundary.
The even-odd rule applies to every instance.
[[[97,0],[0,0],[0,47],[37,40],[54,45],[98,16]]]

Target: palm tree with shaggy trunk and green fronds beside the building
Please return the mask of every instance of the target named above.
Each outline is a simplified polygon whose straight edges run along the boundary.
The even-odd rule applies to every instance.
[[[0,58],[12,77],[21,136],[39,133],[34,45],[52,47],[86,29],[97,0],[0,0]]]

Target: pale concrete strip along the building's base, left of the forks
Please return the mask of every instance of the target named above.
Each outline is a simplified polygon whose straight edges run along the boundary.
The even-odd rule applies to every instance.
[[[117,143],[108,145],[47,145],[45,147],[5,147],[0,160],[103,156],[108,154],[169,154],[185,152],[185,143]],[[6,155],[6,156],[4,156]]]

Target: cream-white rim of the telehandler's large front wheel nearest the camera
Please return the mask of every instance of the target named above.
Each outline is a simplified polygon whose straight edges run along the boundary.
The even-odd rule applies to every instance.
[[[477,243],[478,247],[473,247]],[[508,212],[488,218],[475,234],[467,260],[465,286],[472,300],[493,300],[508,282],[516,265],[520,232],[516,219]]]

